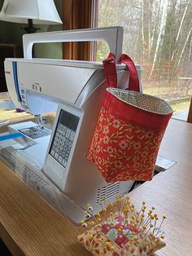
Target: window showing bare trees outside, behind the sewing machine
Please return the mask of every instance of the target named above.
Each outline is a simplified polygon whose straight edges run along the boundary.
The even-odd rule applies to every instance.
[[[192,0],[98,0],[98,27],[124,28],[123,52],[142,65],[144,93],[168,100],[186,120],[192,95]],[[96,59],[107,45],[98,42]]]

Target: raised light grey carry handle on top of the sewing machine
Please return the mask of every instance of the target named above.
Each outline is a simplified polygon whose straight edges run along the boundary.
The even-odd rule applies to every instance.
[[[122,53],[123,34],[124,29],[120,26],[24,34],[24,58],[32,59],[32,48],[34,43],[106,41],[110,52],[115,55],[117,63]]]

